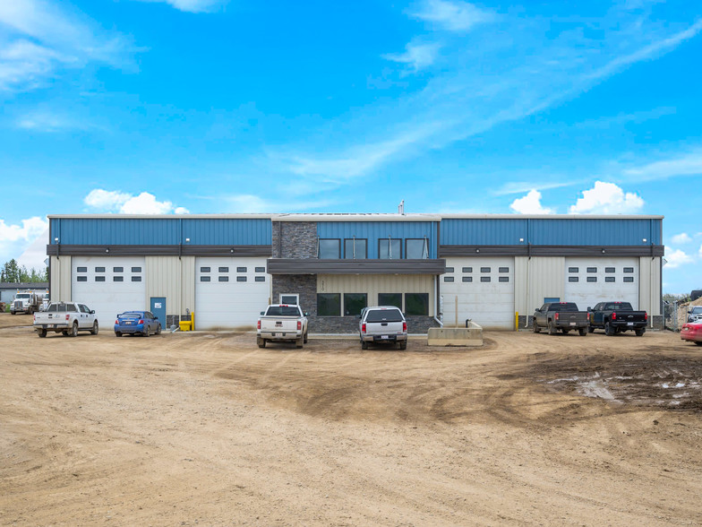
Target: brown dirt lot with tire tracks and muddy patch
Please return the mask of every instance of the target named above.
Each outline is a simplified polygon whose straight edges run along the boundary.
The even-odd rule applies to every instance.
[[[698,525],[702,348],[39,339],[0,315],[3,525]]]

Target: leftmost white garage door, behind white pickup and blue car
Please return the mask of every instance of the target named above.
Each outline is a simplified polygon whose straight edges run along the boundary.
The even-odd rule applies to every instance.
[[[118,313],[146,305],[145,263],[141,256],[73,256],[71,298],[95,309],[103,329]]]

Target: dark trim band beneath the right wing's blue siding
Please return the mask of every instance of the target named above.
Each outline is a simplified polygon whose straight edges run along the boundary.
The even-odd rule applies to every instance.
[[[439,256],[663,256],[664,246],[440,246]]]

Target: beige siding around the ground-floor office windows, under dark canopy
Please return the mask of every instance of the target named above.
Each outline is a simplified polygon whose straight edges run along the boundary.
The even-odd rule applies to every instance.
[[[428,293],[429,314],[434,310],[434,280],[431,275],[318,274],[318,293],[366,293],[368,305],[378,305],[378,293]]]

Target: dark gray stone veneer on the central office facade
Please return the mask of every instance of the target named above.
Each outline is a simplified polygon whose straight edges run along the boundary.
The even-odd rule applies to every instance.
[[[309,259],[317,257],[317,224],[312,221],[273,221],[272,257]],[[316,274],[274,274],[272,302],[281,294],[298,294],[300,307],[309,313],[310,333],[358,333],[355,316],[317,316]],[[427,333],[439,327],[432,316],[407,316],[407,333]]]

